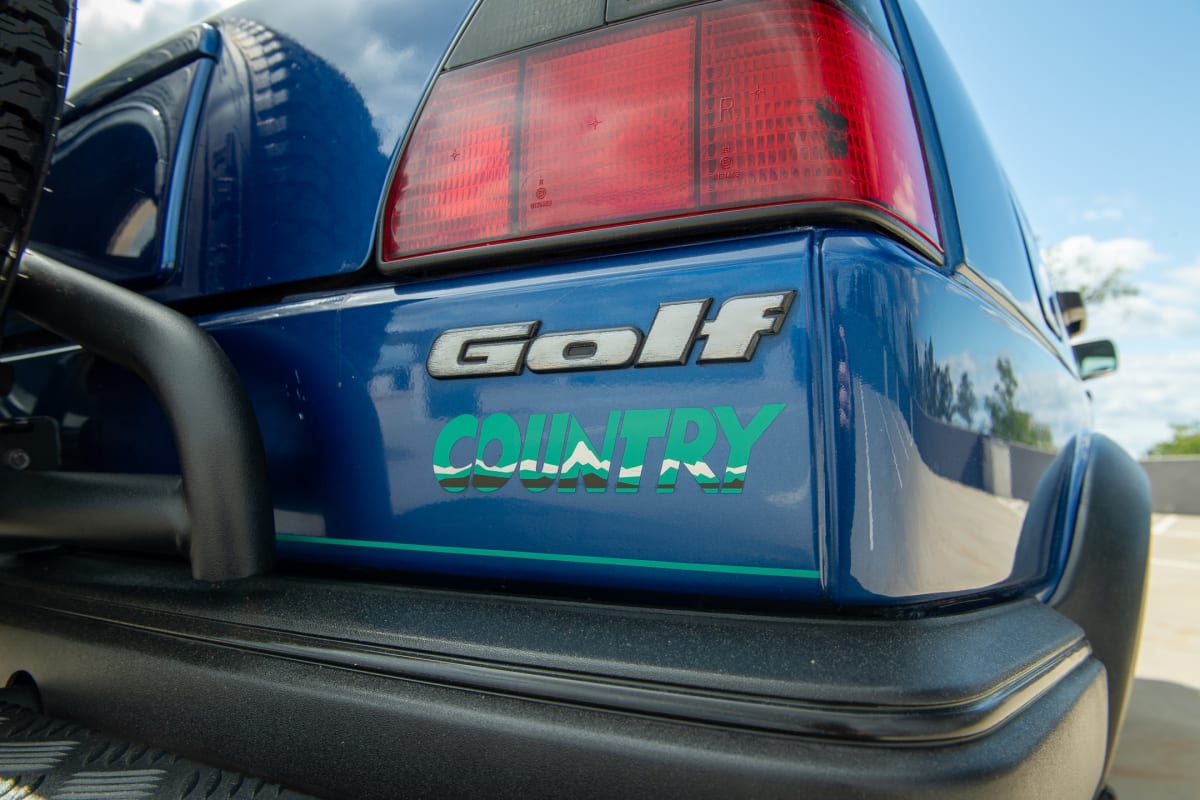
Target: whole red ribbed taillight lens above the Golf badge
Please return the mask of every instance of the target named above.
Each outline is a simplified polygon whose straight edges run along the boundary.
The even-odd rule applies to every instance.
[[[895,58],[838,6],[727,0],[442,74],[384,258],[793,201],[936,241]]]

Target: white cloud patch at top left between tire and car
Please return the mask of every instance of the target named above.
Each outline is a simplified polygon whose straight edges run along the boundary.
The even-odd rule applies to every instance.
[[[71,88],[236,0],[79,0]]]

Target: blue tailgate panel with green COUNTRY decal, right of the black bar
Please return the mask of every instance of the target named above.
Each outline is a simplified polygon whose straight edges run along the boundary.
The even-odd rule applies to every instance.
[[[259,407],[281,422],[298,417],[314,471],[305,487],[277,485],[282,553],[815,597],[810,241],[800,234],[679,248],[653,261],[614,258],[378,289],[314,301],[283,319],[274,309],[263,320],[212,320],[235,362],[245,360],[252,398],[296,398],[290,408]],[[691,357],[682,366],[458,379],[432,378],[426,366],[434,339],[452,329],[538,321],[541,335],[647,331],[660,302],[713,299],[715,308],[772,291],[797,291],[798,300],[748,362]],[[251,368],[262,363],[278,365],[274,381]],[[281,383],[294,387],[280,391]],[[746,434],[725,415],[743,429],[756,417],[767,427]],[[270,437],[268,444],[283,445]],[[674,463],[686,461],[680,453],[703,455],[695,474]],[[330,548],[325,537],[367,547]]]

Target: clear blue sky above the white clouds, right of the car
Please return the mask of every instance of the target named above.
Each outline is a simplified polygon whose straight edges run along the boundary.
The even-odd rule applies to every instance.
[[[1200,2],[924,0],[1046,241],[1138,236],[1194,258]],[[1088,212],[1092,212],[1088,215]],[[1116,213],[1112,213],[1116,212]]]

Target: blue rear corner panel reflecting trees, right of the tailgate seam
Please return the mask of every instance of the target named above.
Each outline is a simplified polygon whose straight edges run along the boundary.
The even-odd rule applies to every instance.
[[[1052,455],[1088,425],[1069,367],[1024,320],[890,242],[830,236],[822,253],[838,375],[834,595],[1045,583],[1057,559],[1022,524]]]

